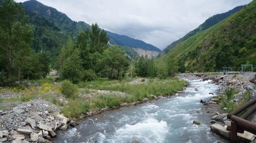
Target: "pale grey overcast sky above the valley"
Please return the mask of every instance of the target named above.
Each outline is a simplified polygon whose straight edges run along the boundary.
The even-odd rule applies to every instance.
[[[23,0],[16,0],[24,2]],[[73,21],[143,40],[160,49],[182,38],[212,15],[252,0],[38,0]]]

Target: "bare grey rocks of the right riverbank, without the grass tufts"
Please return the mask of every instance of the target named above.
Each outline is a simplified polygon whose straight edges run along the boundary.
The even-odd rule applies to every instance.
[[[185,77],[186,78],[186,77]],[[234,88],[238,91],[237,94],[235,94],[234,97],[232,97],[231,101],[235,103],[239,103],[243,100],[243,96],[245,93],[249,91],[250,96],[248,97],[248,100],[251,100],[256,97],[256,76],[255,73],[243,73],[243,74],[218,74],[216,76],[189,76],[189,80],[211,80],[211,83],[219,84],[221,85],[218,90],[218,95],[221,95],[224,93],[225,89],[227,88]],[[224,125],[230,125],[230,121],[227,118],[227,108],[222,108],[220,98],[223,98],[221,96],[215,96],[209,101],[202,101],[202,104],[204,104],[205,111],[212,115],[211,121],[209,124],[211,125],[211,130],[214,132],[219,132],[216,130],[216,128],[222,128]],[[224,97],[225,98],[225,97]],[[256,113],[252,114],[250,117],[247,118],[247,120],[252,121],[256,123]],[[215,124],[218,123],[218,124]],[[218,126],[218,127],[217,127]],[[229,134],[225,134],[224,132],[219,133],[225,138],[229,137]],[[255,138],[254,135],[248,136],[249,140],[253,140]],[[252,141],[252,142],[255,142]]]

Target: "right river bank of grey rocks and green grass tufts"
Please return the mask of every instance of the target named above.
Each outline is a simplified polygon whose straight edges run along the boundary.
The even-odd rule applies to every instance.
[[[212,121],[209,125],[218,123],[220,125],[229,125],[227,113],[247,103],[255,98],[255,73],[243,74],[219,74],[216,76],[190,76],[188,79],[212,80],[211,83],[218,84],[218,94],[210,100],[202,101],[206,113],[212,115]],[[231,97],[227,97],[227,94]],[[230,98],[230,99],[228,99]],[[256,123],[256,113],[252,114],[247,120]],[[213,129],[214,130],[214,129]],[[225,135],[224,135],[225,136]],[[226,137],[227,138],[227,137]],[[252,136],[252,139],[254,137]],[[244,140],[241,140],[244,141]],[[255,142],[251,141],[251,142]]]

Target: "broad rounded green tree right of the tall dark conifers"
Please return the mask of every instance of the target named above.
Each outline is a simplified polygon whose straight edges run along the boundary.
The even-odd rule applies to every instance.
[[[129,67],[129,60],[122,49],[118,46],[111,46],[104,50],[100,67],[101,76],[120,80]]]

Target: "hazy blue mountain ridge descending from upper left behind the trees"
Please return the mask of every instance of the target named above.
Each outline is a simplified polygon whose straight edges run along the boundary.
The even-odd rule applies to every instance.
[[[28,9],[31,12],[35,12],[38,15],[44,17],[55,26],[64,30],[69,35],[75,37],[78,33],[82,32],[86,28],[90,28],[85,22],[79,21],[75,22],[72,21],[67,15],[62,12],[57,11],[57,9],[52,8],[51,6],[47,6],[38,2],[36,0],[29,0],[22,3],[25,9]],[[63,24],[65,23],[65,25]],[[135,48],[142,48],[145,50],[153,50],[160,52],[161,50],[153,45],[150,45],[142,40],[133,39],[126,35],[119,35],[117,33],[106,31],[108,37],[110,39],[111,44],[116,44],[119,46],[130,46]],[[129,42],[127,42],[129,41]]]

